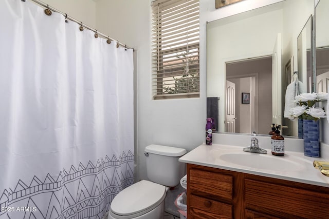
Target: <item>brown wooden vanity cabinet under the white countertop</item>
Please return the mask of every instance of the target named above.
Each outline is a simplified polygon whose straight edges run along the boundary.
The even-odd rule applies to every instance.
[[[329,188],[187,164],[188,218],[328,218]]]

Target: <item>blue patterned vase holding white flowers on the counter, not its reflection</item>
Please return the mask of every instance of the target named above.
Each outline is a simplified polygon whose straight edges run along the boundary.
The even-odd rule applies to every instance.
[[[319,120],[303,120],[304,155],[320,157]]]

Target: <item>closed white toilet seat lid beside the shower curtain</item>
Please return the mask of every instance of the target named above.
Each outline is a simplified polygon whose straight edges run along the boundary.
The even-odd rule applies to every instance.
[[[119,192],[111,203],[115,218],[133,218],[158,206],[166,197],[166,187],[142,180]]]

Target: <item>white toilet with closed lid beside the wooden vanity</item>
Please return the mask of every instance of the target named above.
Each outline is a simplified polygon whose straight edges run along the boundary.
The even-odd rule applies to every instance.
[[[150,181],[139,181],[119,192],[111,203],[108,219],[163,218],[167,191],[185,175],[185,164],[178,162],[178,158],[186,150],[149,145],[144,151]]]

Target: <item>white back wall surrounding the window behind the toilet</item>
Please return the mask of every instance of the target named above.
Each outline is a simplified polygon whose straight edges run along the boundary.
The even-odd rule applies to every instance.
[[[99,0],[97,14],[97,28],[135,49],[137,180],[144,179],[146,146],[169,145],[190,151],[204,141],[205,73],[200,74],[200,98],[152,100],[150,1]]]

